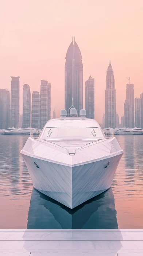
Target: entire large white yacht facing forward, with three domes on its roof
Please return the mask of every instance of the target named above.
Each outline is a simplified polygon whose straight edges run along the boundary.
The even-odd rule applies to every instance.
[[[80,117],[75,108],[66,114],[61,110],[60,118],[49,120],[20,153],[34,188],[74,208],[111,187],[123,150],[85,110]]]

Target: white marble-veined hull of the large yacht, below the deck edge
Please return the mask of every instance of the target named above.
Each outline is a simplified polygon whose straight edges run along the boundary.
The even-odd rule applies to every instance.
[[[45,161],[21,153],[34,188],[72,209],[111,187],[123,151],[76,166]]]

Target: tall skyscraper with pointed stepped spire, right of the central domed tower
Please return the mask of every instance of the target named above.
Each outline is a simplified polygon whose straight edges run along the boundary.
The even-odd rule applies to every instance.
[[[116,126],[116,90],[113,69],[109,63],[105,90],[105,128]]]

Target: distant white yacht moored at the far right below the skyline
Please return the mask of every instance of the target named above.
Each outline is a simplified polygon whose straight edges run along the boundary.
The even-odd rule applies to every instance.
[[[142,128],[120,128],[116,129],[114,131],[115,135],[143,135],[143,129]]]

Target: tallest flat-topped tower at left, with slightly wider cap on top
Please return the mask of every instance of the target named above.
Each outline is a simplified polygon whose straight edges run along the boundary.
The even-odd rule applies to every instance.
[[[11,121],[10,127],[18,128],[19,124],[19,78],[11,76]]]

